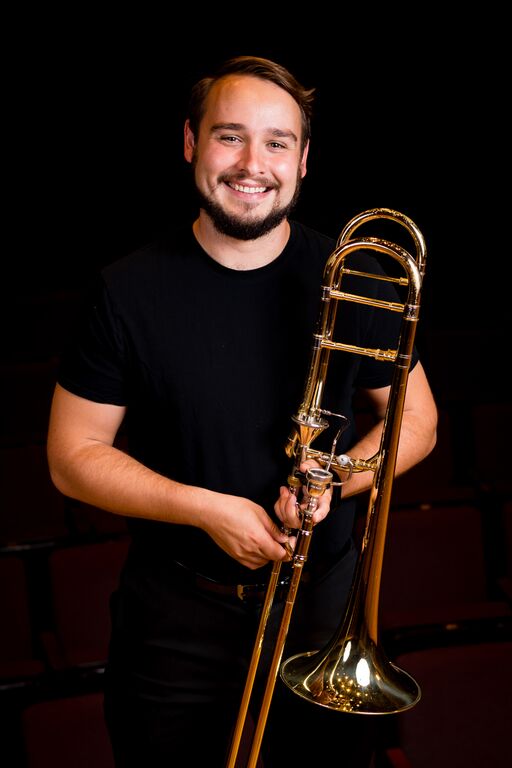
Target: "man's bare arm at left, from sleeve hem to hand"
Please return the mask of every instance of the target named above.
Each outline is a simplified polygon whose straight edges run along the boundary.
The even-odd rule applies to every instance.
[[[114,514],[202,528],[249,568],[285,558],[287,536],[258,504],[178,483],[114,447],[124,415],[123,407],[95,403],[56,386],[48,462],[63,494]]]

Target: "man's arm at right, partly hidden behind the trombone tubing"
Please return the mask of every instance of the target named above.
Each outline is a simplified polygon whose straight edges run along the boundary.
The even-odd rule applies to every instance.
[[[365,390],[364,394],[377,421],[370,431],[350,448],[350,456],[369,459],[378,452],[390,390],[391,387]],[[423,366],[418,362],[407,381],[395,475],[406,472],[428,456],[436,444],[436,429],[437,407]],[[314,461],[308,463],[315,464]],[[362,493],[370,488],[372,482],[372,472],[355,472],[343,485],[343,496]],[[329,504],[330,494],[325,494],[313,516],[315,524],[327,516]],[[280,490],[275,510],[285,525],[293,526],[296,520],[295,500],[290,497],[285,487]]]

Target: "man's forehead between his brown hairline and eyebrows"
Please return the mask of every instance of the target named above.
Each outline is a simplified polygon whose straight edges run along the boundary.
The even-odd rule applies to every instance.
[[[301,135],[301,111],[290,94],[278,85],[252,75],[227,75],[211,88],[203,122],[238,123],[246,128],[278,128]]]

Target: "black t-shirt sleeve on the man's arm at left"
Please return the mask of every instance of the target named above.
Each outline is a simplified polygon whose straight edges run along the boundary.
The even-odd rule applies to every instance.
[[[100,279],[86,302],[75,338],[62,355],[57,380],[87,400],[125,405],[125,371],[122,322]]]

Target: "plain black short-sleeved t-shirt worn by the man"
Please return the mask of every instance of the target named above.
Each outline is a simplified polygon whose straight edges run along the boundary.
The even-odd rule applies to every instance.
[[[237,271],[211,259],[191,228],[152,243],[102,271],[59,383],[95,402],[126,406],[128,450],[148,467],[250,498],[273,514],[291,469],[284,446],[302,400],[322,275],[334,247],[332,239],[291,222],[289,241],[273,262]],[[375,271],[368,253],[350,259]],[[392,290],[383,281],[364,282],[363,288],[361,278],[349,277],[343,287],[380,297]],[[339,340],[396,348],[399,315],[340,304]],[[371,357],[331,353],[322,405],[351,422],[337,453],[355,439],[355,390],[389,385],[392,370]],[[333,419],[314,447],[329,450],[337,429]],[[310,557],[341,551],[353,506],[342,501],[316,527]],[[148,564],[160,553],[216,578],[247,577],[197,528],[138,518],[129,525],[135,551]],[[247,580],[256,580],[254,572]]]

